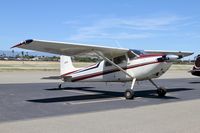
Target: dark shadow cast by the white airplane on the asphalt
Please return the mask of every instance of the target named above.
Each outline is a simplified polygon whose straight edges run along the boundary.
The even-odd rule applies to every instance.
[[[63,89],[46,89],[48,91],[59,91],[59,90],[81,90],[85,92],[90,92],[92,94],[82,94],[82,95],[75,95],[75,96],[64,96],[64,97],[53,97],[53,98],[44,98],[44,99],[33,99],[27,100],[28,102],[35,102],[35,103],[56,103],[56,102],[71,102],[71,101],[83,101],[83,100],[96,100],[96,99],[108,99],[108,98],[117,98],[123,97],[124,92],[116,92],[116,91],[105,91],[105,90],[96,90],[92,89],[93,87],[67,87]],[[191,88],[171,88],[167,89],[167,92],[178,92],[178,91],[190,91],[193,90]],[[143,97],[143,98],[157,98],[157,99],[179,99],[177,97],[172,96],[165,96],[165,97],[158,97],[156,95],[155,90],[142,90],[142,91],[135,91],[136,97]]]

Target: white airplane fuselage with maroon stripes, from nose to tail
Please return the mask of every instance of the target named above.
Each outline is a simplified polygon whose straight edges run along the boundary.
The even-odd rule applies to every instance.
[[[160,77],[170,68],[172,63],[160,61],[159,58],[162,57],[161,54],[150,54],[131,58],[126,54],[113,58],[112,61],[137,80],[147,80]],[[62,77],[64,81],[70,82],[127,82],[132,80],[124,72],[104,60],[95,65],[66,73]]]

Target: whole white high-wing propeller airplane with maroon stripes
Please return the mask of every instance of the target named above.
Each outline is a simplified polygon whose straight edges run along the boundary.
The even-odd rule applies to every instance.
[[[126,48],[113,48],[86,44],[53,42],[42,40],[26,40],[12,48],[23,48],[61,55],[60,75],[64,82],[129,82],[126,99],[134,98],[136,81],[149,80],[156,88],[158,96],[165,96],[166,89],[158,86],[152,79],[164,74],[172,61],[193,54],[192,52],[175,51],[139,51]],[[103,60],[95,65],[75,68],[71,57],[85,53],[95,53]],[[61,88],[61,84],[59,85]]]

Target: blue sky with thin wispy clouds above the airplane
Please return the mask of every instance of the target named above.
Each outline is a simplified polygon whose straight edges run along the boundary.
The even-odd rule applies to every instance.
[[[25,39],[200,53],[199,0],[1,0],[0,50]]]

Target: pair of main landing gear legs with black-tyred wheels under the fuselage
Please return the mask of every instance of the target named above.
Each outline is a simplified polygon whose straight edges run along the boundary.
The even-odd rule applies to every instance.
[[[132,84],[131,84],[131,89],[127,89],[124,92],[124,97],[127,100],[134,99],[134,97],[135,97],[135,94],[134,94],[134,91],[133,91],[135,81],[136,81],[136,79],[134,78],[133,81],[132,81]],[[166,95],[167,90],[164,87],[158,86],[155,82],[153,82],[152,79],[149,79],[149,81],[157,88],[157,94],[158,94],[159,97],[164,97]]]

